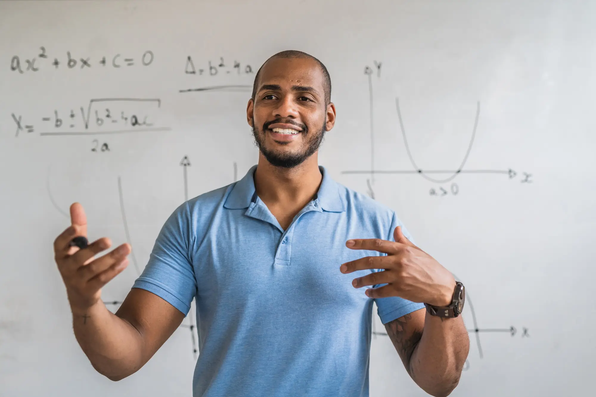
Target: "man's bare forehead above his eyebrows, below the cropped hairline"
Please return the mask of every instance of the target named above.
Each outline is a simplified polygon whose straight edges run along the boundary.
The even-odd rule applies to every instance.
[[[259,75],[259,88],[263,84],[290,83],[320,89],[323,73],[311,58],[271,58],[263,65]]]

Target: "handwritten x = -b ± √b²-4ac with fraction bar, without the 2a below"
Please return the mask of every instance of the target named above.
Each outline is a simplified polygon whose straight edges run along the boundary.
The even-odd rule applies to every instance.
[[[41,117],[24,119],[22,114],[11,113],[15,137],[41,129],[39,135],[117,134],[122,132],[168,131],[154,126],[153,116],[161,107],[160,99],[98,98],[77,110],[51,110]]]

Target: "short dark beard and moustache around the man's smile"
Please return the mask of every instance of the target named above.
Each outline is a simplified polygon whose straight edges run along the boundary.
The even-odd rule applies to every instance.
[[[283,151],[269,150],[265,147],[265,134],[269,128],[269,125],[281,122],[288,123],[287,120],[283,121],[281,119],[265,122],[263,123],[263,129],[259,131],[258,128],[254,128],[253,119],[251,131],[253,133],[254,144],[259,148],[260,153],[263,154],[265,159],[271,163],[272,166],[294,168],[302,164],[306,159],[311,157],[317,150],[319,150],[319,147],[323,142],[323,138],[325,137],[325,124],[327,124],[327,120],[325,119],[321,129],[316,132],[309,132],[308,127],[304,124],[289,123],[302,128],[302,131],[300,131],[299,134],[303,134],[303,150],[299,150],[294,153],[284,153]]]

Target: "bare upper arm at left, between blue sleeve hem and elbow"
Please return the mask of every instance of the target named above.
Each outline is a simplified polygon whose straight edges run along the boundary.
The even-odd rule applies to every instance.
[[[147,290],[133,288],[116,312],[139,333],[141,368],[184,320],[184,313],[166,300]],[[139,368],[136,368],[137,370]]]

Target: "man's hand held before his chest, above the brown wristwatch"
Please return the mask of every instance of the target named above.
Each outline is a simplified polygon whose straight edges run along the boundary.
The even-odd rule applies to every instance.
[[[415,246],[403,235],[401,227],[393,231],[393,241],[380,238],[354,239],[346,241],[346,246],[355,250],[373,250],[387,256],[365,256],[343,263],[342,273],[363,269],[384,269],[363,277],[355,278],[355,288],[386,284],[386,286],[366,290],[369,297],[381,298],[399,296],[412,302],[429,303],[433,306],[451,304],[455,289],[455,279],[432,256]]]

